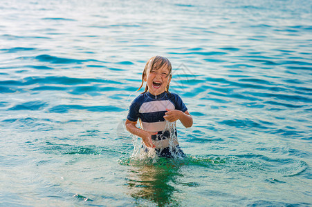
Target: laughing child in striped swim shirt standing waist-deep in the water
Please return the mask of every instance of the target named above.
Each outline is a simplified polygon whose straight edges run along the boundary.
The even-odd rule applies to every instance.
[[[166,120],[180,120],[188,128],[193,119],[182,99],[168,91],[171,78],[172,66],[167,58],[156,56],[147,61],[140,86],[147,82],[145,91],[131,103],[125,125],[129,132],[142,138],[146,150],[155,148],[159,157],[174,157],[172,152],[184,157],[178,140],[172,140],[171,133],[165,130]],[[138,118],[140,128],[136,127]],[[176,137],[176,127],[174,134]]]

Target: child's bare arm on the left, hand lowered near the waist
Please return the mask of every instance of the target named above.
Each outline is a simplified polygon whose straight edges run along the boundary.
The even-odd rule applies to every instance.
[[[143,129],[136,127],[136,121],[129,121],[127,119],[126,123],[127,130],[138,137],[141,137],[145,146],[149,148],[155,148],[156,146],[152,143],[152,135],[157,135],[157,132],[147,132]]]

